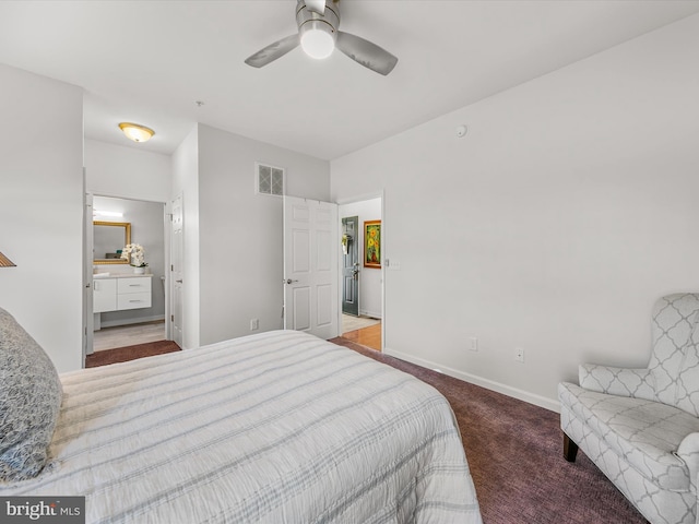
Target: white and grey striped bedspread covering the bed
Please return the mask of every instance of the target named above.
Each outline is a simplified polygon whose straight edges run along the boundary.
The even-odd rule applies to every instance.
[[[1,496],[85,496],[88,523],[479,523],[449,404],[275,331],[61,376],[51,462]]]

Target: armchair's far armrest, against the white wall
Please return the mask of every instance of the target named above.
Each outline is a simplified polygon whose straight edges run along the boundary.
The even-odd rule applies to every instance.
[[[650,369],[613,368],[582,364],[578,370],[580,386],[609,395],[655,401],[655,380]]]

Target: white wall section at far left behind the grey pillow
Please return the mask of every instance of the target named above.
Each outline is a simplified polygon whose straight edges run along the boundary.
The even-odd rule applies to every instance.
[[[83,92],[0,64],[0,307],[82,367]]]

